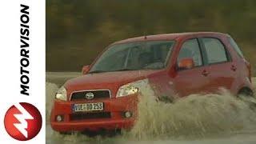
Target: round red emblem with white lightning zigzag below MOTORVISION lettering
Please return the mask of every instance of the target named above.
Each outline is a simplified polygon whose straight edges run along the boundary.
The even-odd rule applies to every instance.
[[[20,102],[11,106],[4,119],[6,131],[12,138],[27,141],[34,138],[42,127],[42,115],[30,103]]]

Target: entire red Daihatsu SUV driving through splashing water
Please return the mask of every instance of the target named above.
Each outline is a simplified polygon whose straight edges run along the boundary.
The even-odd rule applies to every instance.
[[[159,34],[114,42],[83,75],[55,95],[50,123],[59,132],[130,129],[138,94],[158,98],[215,93],[252,95],[250,63],[234,39],[214,32]]]

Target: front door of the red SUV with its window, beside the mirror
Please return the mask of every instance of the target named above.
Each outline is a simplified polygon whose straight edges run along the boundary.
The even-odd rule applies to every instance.
[[[202,49],[197,38],[183,42],[179,51],[177,63],[182,58],[193,58],[195,67],[189,70],[178,70],[174,78],[175,90],[179,96],[198,94],[208,91],[208,72],[202,57]]]

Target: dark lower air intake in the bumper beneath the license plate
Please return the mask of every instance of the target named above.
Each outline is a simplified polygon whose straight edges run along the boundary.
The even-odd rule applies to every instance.
[[[97,118],[111,118],[111,114],[110,112],[70,114],[70,121],[97,119]]]

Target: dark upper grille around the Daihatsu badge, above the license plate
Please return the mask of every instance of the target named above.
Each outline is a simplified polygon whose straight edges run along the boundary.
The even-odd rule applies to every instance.
[[[86,98],[86,94],[88,93],[94,94],[94,98],[92,99],[110,98],[110,90],[84,90],[72,93],[70,100],[90,100]]]

